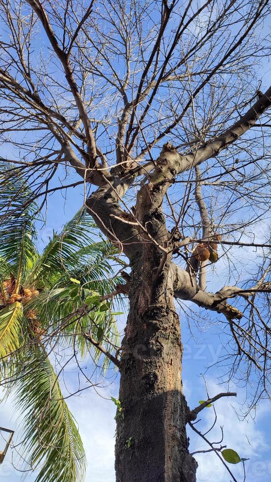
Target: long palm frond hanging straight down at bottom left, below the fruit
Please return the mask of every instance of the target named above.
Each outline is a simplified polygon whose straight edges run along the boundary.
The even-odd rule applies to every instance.
[[[27,375],[19,381],[17,408],[24,412],[24,450],[37,468],[36,482],[81,482],[85,454],[57,376],[41,345],[27,353]]]

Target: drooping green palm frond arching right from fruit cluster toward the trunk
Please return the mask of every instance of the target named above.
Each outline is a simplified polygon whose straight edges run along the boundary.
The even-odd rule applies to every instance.
[[[86,307],[81,313],[84,301],[92,291],[81,287],[79,284],[69,284],[65,288],[55,288],[43,291],[38,297],[28,301],[25,306],[27,310],[33,309],[38,312],[40,326],[47,333],[47,336],[57,338],[61,333],[61,344],[70,346],[74,342],[76,334],[76,345],[81,356],[85,357],[89,353],[89,346],[83,336],[89,330],[96,341],[107,349],[109,353],[115,355],[116,348],[120,345],[120,336],[115,323],[115,318],[111,315],[112,301],[97,303]],[[103,296],[100,292],[99,296]],[[58,342],[60,342],[58,340]],[[98,363],[101,352],[91,347],[92,359]],[[103,360],[104,366],[109,366],[108,359]]]

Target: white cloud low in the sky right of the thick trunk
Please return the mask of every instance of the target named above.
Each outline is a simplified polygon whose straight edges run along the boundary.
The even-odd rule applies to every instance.
[[[233,391],[236,387],[232,387]],[[214,395],[217,392],[227,392],[223,387],[219,387],[217,390],[217,384],[215,381],[208,381],[209,392]],[[242,397],[242,391],[237,390],[239,399]],[[211,396],[212,396],[211,395]],[[241,458],[249,458],[245,462],[246,468],[246,482],[267,482],[271,479],[271,458],[266,459],[266,454],[261,454],[268,449],[265,441],[264,432],[259,428],[261,421],[266,416],[266,406],[262,403],[261,408],[257,411],[256,420],[249,418],[244,421],[240,421],[234,411],[240,411],[240,405],[238,400],[234,398],[221,398],[215,403],[217,412],[217,423],[215,428],[207,435],[207,438],[211,441],[219,441],[221,439],[221,429],[223,427],[223,442],[222,446],[227,445],[227,448],[233,449],[239,453]],[[210,428],[214,422],[213,409],[204,409],[201,416],[202,422],[196,425],[198,430],[205,432]],[[194,432],[190,434],[191,443],[190,450],[206,450],[210,449],[204,441],[196,435]],[[219,447],[216,446],[216,447]],[[222,465],[217,455],[213,452],[205,454],[196,454],[196,460],[198,461],[199,468],[197,471],[197,482],[216,481],[216,482],[229,482],[231,480],[229,473]],[[229,464],[229,468],[238,481],[243,481],[244,471],[243,464],[236,465]]]

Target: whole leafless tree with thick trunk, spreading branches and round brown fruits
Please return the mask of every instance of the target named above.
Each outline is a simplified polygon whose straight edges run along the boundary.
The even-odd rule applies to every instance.
[[[270,394],[269,14],[268,0],[0,1],[8,176],[41,208],[81,184],[129,260],[117,482],[196,480],[186,425],[204,407],[182,391],[176,300],[191,329],[214,312],[229,379],[257,377],[249,407]]]

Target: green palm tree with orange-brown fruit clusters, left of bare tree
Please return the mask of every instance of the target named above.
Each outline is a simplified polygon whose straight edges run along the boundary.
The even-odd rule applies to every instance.
[[[7,396],[15,391],[24,419],[22,448],[29,454],[27,468],[39,469],[36,482],[77,482],[84,479],[84,450],[61,394],[52,347],[72,346],[103,370],[117,364],[108,295],[120,279],[114,275],[116,250],[97,238],[82,209],[39,253],[38,208],[34,202],[25,206],[25,183],[0,183],[1,385]]]

